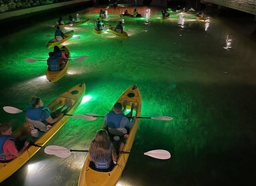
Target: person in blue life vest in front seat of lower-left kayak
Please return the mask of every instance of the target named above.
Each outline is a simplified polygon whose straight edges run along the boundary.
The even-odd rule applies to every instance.
[[[55,124],[55,122],[63,117],[63,114],[68,111],[70,106],[72,106],[72,103],[70,101],[70,99],[66,99],[64,106],[61,106],[61,108],[58,108],[52,113],[48,106],[43,106],[43,101],[41,100],[41,98],[37,96],[32,96],[31,106],[27,108],[26,120],[30,119],[35,121],[41,121],[46,126],[49,125],[48,127],[51,127],[53,124]],[[55,115],[57,115],[56,118],[54,118]]]

